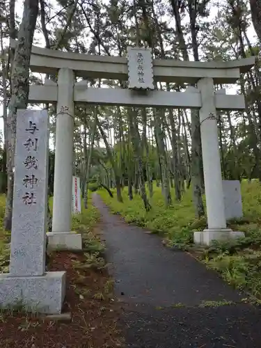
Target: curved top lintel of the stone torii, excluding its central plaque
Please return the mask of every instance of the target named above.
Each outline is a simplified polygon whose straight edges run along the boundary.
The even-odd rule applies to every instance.
[[[13,47],[16,44],[15,40],[11,40]],[[196,84],[207,71],[207,76],[212,77],[215,84],[234,84],[240,77],[239,72],[247,72],[254,64],[255,57],[226,62],[155,59],[153,71],[156,81]],[[44,74],[54,74],[58,72],[59,67],[63,66],[75,70],[77,76],[84,79],[92,77],[127,81],[128,78],[127,58],[124,57],[59,52],[33,46],[30,65],[33,72]]]

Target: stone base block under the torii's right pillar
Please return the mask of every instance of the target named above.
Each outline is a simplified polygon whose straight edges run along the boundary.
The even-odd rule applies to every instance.
[[[194,243],[205,244],[209,246],[210,244],[212,244],[213,240],[226,241],[240,237],[245,237],[244,232],[235,232],[230,230],[229,228],[220,230],[207,228],[203,231],[194,232]]]

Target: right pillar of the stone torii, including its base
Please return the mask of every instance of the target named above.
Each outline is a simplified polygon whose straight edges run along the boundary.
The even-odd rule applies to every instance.
[[[207,229],[203,232],[194,232],[194,242],[209,245],[213,240],[244,237],[244,232],[233,232],[226,226],[213,79],[209,77],[200,79],[198,89],[202,102],[200,132],[207,203]]]

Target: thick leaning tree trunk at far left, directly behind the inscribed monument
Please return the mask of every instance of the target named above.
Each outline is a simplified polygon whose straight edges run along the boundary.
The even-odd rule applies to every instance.
[[[25,0],[22,22],[19,27],[17,46],[11,73],[12,95],[9,104],[7,127],[7,174],[6,214],[4,227],[12,228],[13,184],[15,166],[15,140],[17,109],[26,109],[29,97],[29,69],[33,34],[38,16],[38,1]]]

